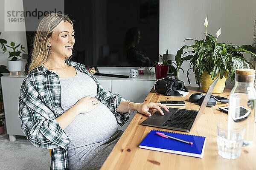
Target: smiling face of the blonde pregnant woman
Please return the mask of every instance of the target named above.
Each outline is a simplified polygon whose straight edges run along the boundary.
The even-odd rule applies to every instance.
[[[61,23],[52,31],[52,37],[48,42],[52,57],[70,57],[75,43],[73,26],[68,22]]]

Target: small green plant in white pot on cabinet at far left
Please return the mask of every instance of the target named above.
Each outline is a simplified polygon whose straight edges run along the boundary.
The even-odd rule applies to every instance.
[[[0,33],[1,34],[1,33]],[[19,72],[21,71],[22,61],[21,61],[21,52],[25,52],[23,45],[18,44],[15,45],[15,42],[11,42],[10,45],[6,45],[7,41],[4,39],[0,39],[1,48],[3,50],[3,54],[5,52],[9,53],[9,58],[11,58],[8,61],[8,69],[10,72]],[[18,49],[20,47],[20,49]],[[10,50],[7,50],[9,48]]]

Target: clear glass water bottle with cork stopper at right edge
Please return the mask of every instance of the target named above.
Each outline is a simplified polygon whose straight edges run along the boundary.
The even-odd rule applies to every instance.
[[[228,126],[243,125],[245,129],[243,146],[253,144],[255,136],[255,70],[236,69],[236,83],[230,92]]]

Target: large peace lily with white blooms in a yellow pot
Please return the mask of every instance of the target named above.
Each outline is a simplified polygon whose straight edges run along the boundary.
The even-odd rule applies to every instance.
[[[217,42],[218,37],[221,35],[221,28],[217,31],[216,37],[208,34],[207,17],[205,18],[204,26],[206,27],[205,40],[186,39],[194,41],[194,44],[183,45],[183,47],[177,51],[175,61],[177,67],[180,67],[182,64],[181,61],[190,60],[190,68],[186,72],[188,82],[190,84],[189,70],[192,69],[195,73],[196,83],[198,86],[200,86],[201,83],[204,92],[207,92],[213,80],[220,76],[213,93],[222,93],[225,88],[226,79],[230,78],[231,82],[235,79],[237,68],[244,68],[244,65],[249,68],[249,65],[252,65],[244,59],[242,53],[246,52],[256,56],[256,49],[251,45],[239,46]],[[183,50],[188,48],[191,50],[183,53]],[[186,55],[189,52],[192,54]],[[178,74],[178,71],[176,74]]]

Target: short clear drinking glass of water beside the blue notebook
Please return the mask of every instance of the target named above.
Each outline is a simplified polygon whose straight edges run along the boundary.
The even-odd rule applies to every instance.
[[[237,159],[241,155],[245,127],[235,124],[230,126],[227,122],[217,125],[218,154],[225,159]]]

